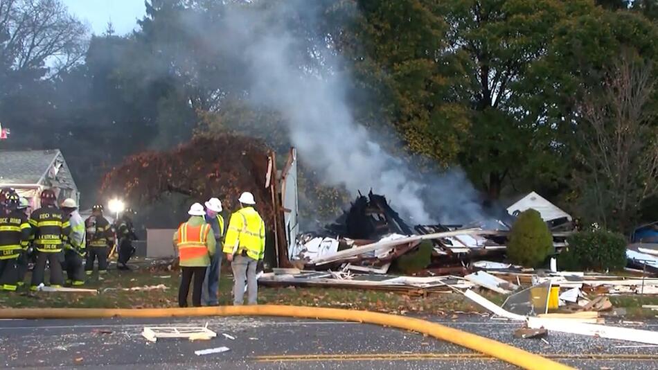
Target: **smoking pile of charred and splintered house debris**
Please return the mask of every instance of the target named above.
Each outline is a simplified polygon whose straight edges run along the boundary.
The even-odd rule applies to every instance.
[[[476,270],[517,268],[503,261],[509,230],[505,220],[410,227],[386,197],[371,191],[367,196],[359,193],[350,209],[323,231],[298,236],[290,260],[301,270],[465,276]],[[553,234],[557,251],[568,235]],[[271,277],[265,276],[263,283]],[[307,277],[312,279],[298,276],[295,282]]]

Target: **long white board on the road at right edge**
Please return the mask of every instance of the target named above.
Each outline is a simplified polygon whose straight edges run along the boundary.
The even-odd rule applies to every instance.
[[[646,344],[658,344],[658,332],[643,331],[619,326],[587,324],[574,322],[571,319],[544,319],[541,317],[528,317],[528,328],[544,328],[548,331],[571,333],[601,337],[612,340],[628,340]]]

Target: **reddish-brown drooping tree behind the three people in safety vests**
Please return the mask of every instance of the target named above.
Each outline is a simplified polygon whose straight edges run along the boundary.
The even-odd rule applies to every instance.
[[[237,209],[240,193],[250,191],[263,217],[272,220],[272,195],[265,188],[268,152],[253,138],[197,136],[174,150],[127,157],[105,175],[100,193],[105,199],[120,194],[131,204],[150,204],[167,193],[195,201],[220,197],[227,209]]]

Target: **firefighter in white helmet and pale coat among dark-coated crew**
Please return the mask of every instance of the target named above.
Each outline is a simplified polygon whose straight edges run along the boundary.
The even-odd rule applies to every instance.
[[[85,222],[78,213],[78,204],[68,198],[60,206],[66,214],[71,233],[64,239],[64,270],[66,271],[66,284],[80,286],[85,284],[85,270],[82,267],[82,258],[85,256]]]

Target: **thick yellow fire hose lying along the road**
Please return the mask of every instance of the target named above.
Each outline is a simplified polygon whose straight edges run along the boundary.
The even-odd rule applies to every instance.
[[[103,319],[112,317],[279,316],[355,321],[423,333],[524,369],[572,369],[540,355],[441,324],[378,312],[300,306],[223,306],[199,308],[6,308],[0,319]]]

